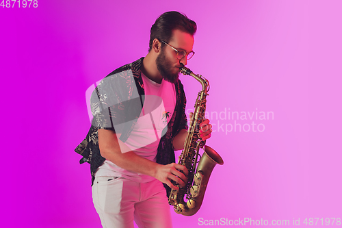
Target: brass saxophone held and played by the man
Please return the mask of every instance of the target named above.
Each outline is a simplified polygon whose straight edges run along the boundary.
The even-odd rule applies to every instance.
[[[198,212],[202,205],[207,183],[213,168],[216,164],[223,164],[222,157],[211,149],[211,147],[205,146],[205,141],[200,139],[199,125],[202,119],[205,117],[206,97],[209,91],[209,81],[201,75],[195,75],[189,68],[181,66],[181,73],[183,75],[191,75],[202,85],[202,90],[198,92],[198,96],[195,103],[194,115],[192,116],[187,138],[184,142],[184,149],[179,155],[179,162],[187,168],[189,175],[187,176],[187,184],[185,187],[179,187],[178,183],[174,183],[174,186],[179,187],[178,190],[171,190],[169,195],[169,204],[174,206],[174,211],[177,214],[183,214],[185,216],[192,216]],[[200,121],[200,122],[199,122]],[[204,152],[200,161],[198,159],[198,151],[204,147]],[[196,164],[198,163],[197,170]],[[196,170],[196,173],[195,173]],[[187,202],[184,201],[184,195],[187,194]]]

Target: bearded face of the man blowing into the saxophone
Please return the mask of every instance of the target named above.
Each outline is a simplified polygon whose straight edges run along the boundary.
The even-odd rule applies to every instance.
[[[173,31],[172,38],[168,44],[177,50],[184,50],[189,53],[194,46],[194,36],[176,29]],[[171,83],[176,83],[178,81],[181,63],[184,65],[187,64],[186,57],[179,60],[176,56],[177,52],[168,45],[165,45],[155,60],[157,69],[161,76],[163,76],[163,79],[170,81]]]

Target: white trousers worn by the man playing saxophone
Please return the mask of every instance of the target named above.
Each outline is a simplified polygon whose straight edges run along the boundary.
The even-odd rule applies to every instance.
[[[172,227],[170,206],[157,179],[137,183],[122,177],[96,177],[92,199],[105,228]]]

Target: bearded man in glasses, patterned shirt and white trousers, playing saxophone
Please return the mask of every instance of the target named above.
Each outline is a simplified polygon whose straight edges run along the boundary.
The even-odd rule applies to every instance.
[[[172,227],[166,189],[185,186],[188,174],[174,163],[187,136],[179,67],[194,54],[195,32],[185,15],[162,14],[146,57],[107,75],[92,94],[92,127],[75,151],[90,163],[103,227],[133,227],[133,220],[139,227]],[[209,120],[200,127],[207,140]]]

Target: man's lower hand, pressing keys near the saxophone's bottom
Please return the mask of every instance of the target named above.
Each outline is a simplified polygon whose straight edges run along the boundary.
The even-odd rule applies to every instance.
[[[187,168],[181,164],[159,164],[155,178],[163,183],[166,183],[173,190],[178,190],[179,188],[174,186],[170,180],[176,181],[180,186],[184,187],[187,183],[188,173],[189,172],[187,171]]]

